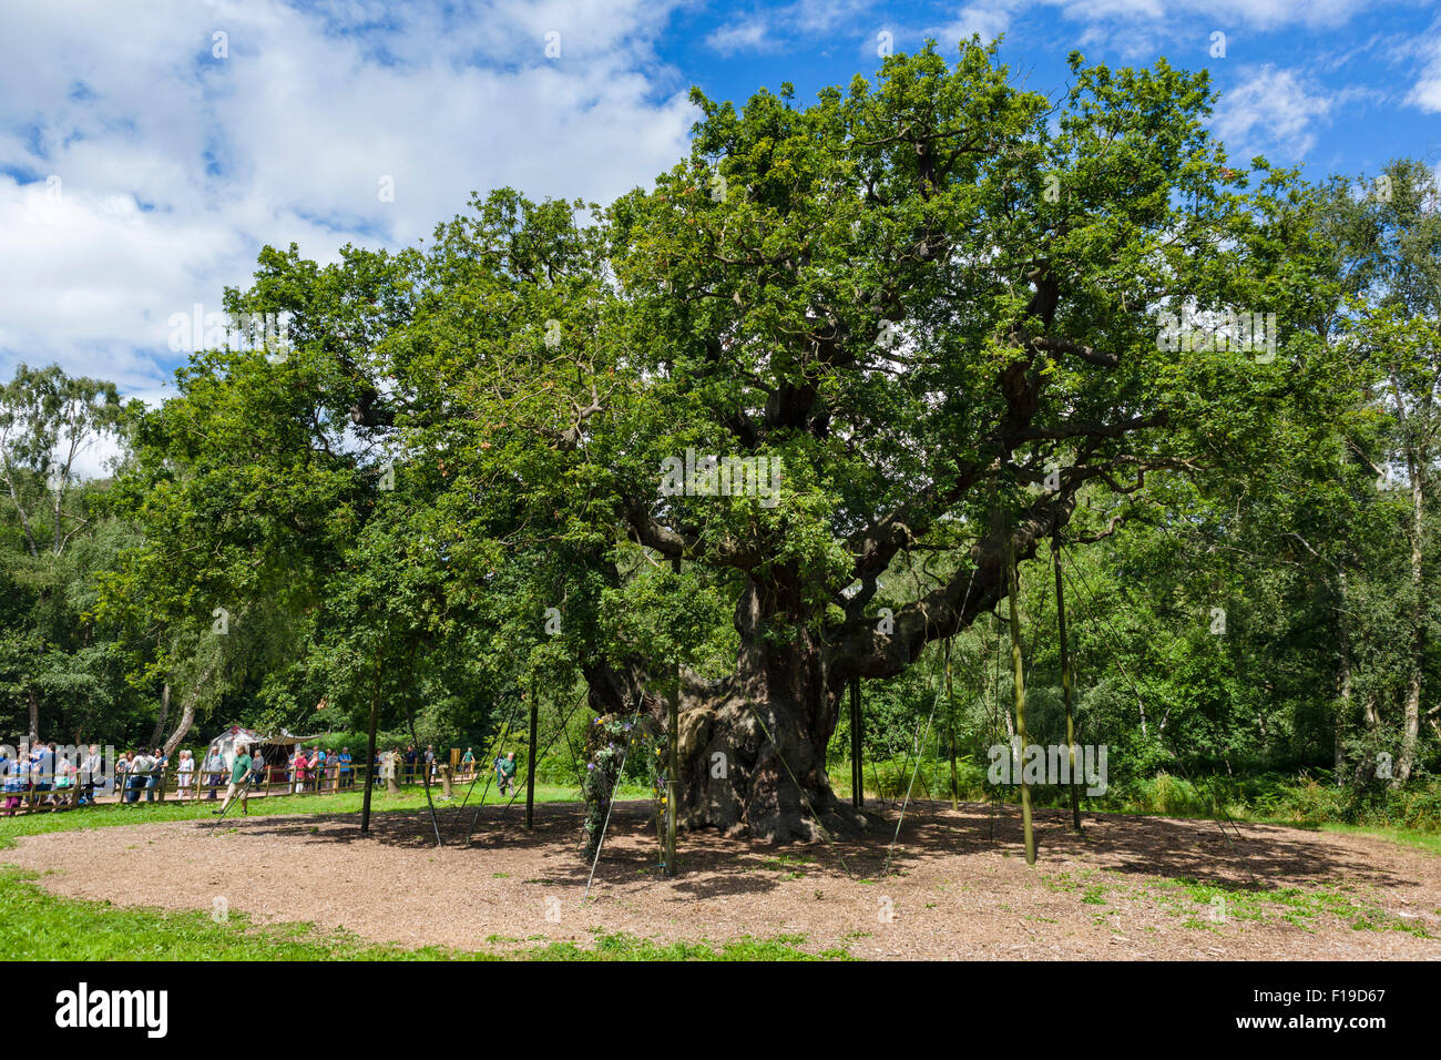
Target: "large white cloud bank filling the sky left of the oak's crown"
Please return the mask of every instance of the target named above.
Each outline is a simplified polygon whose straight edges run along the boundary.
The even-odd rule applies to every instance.
[[[59,361],[154,395],[169,314],[219,309],[264,242],[327,261],[344,242],[428,237],[471,190],[604,202],[648,183],[695,120],[651,49],[667,17],[643,0],[12,12],[0,375]],[[215,32],[229,58],[212,56]]]

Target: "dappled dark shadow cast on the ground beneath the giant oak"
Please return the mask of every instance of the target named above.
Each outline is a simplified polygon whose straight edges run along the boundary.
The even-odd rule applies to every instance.
[[[591,865],[579,854],[584,808],[576,803],[539,803],[535,829],[525,829],[525,806],[438,806],[441,838],[448,848],[465,845],[504,854],[506,849],[539,854],[546,873],[536,883],[584,885]],[[726,839],[718,832],[683,832],[680,880],[676,890],[695,897],[757,894],[797,874],[849,875],[878,880],[885,874],[911,874],[934,855],[1003,854],[1022,858],[1020,813],[1014,806],[963,803],[912,805],[895,832],[896,808],[869,805],[878,819],[862,835],[833,836],[831,842],[771,845]],[[646,800],[618,802],[595,868],[595,880],[608,884],[656,878],[660,874],[659,841]],[[272,835],[316,844],[382,844],[421,849],[435,845],[429,812],[379,809],[370,818],[370,835],[359,831],[359,813],[304,818],[256,816],[226,819],[216,834],[235,828],[246,835]],[[1035,835],[1038,868],[1087,868],[1133,873],[1167,880],[1244,890],[1319,885],[1337,880],[1376,887],[1404,885],[1379,858],[1329,842],[1324,834],[1257,823],[1218,823],[1174,818],[1087,813],[1085,831],[1069,829],[1069,811],[1038,809]],[[200,829],[209,829],[202,822]],[[892,847],[892,836],[895,842]],[[889,855],[889,857],[888,857]]]

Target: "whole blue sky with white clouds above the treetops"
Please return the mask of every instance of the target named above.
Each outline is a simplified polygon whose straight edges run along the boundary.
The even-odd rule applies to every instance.
[[[973,32],[1004,33],[1013,74],[1052,94],[1072,49],[1206,66],[1238,159],[1311,177],[1441,163],[1431,0],[13,0],[0,372],[56,361],[156,401],[179,361],[169,317],[218,310],[267,242],[323,261],[411,244],[507,183],[605,200],[686,150],[692,84],[808,100],[872,75],[882,35],[954,53]]]

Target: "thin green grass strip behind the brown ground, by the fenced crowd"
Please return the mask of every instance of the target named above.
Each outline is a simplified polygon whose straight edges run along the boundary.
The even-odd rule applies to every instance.
[[[471,806],[476,806],[481,800],[481,787],[484,780],[476,786],[474,793],[467,803],[467,812]],[[457,789],[460,795],[451,802],[444,802],[440,795],[435,798],[435,809],[442,818],[447,813],[454,813],[455,808],[461,805],[464,798],[464,787]],[[275,798],[251,799],[251,816],[277,816],[277,815],[320,815],[320,813],[359,813],[360,802],[363,793],[356,792],[342,792],[337,795],[284,795]],[[623,799],[641,799],[650,798],[650,787],[641,786],[623,786],[620,798]],[[487,806],[504,805],[510,800],[509,796],[501,796],[496,792],[494,785],[491,785],[490,792],[486,795],[484,803]],[[575,787],[568,787],[565,785],[536,785],[536,802],[579,802],[579,793]],[[516,806],[512,812],[522,812],[525,803],[525,793],[516,799]],[[104,803],[99,806],[84,806],[81,809],[71,809],[62,813],[26,813],[24,816],[14,818],[0,818],[0,849],[9,847],[16,836],[20,835],[39,835],[42,832],[68,832],[76,828],[114,828],[117,825],[146,825],[157,821],[208,821],[212,819],[210,811],[219,806],[219,802],[200,800],[196,802],[164,802],[164,803],[134,803],[130,806],[121,806],[117,803]],[[425,808],[425,792],[421,787],[403,787],[396,796],[389,796],[382,792],[376,792],[370,800],[370,809],[376,813],[391,812],[391,811],[416,811]],[[239,818],[239,808],[232,808],[226,813],[225,819]]]

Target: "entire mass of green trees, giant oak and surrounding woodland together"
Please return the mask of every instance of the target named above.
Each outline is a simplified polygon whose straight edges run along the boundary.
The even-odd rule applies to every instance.
[[[853,684],[883,790],[954,757],[983,792],[1013,637],[1030,738],[1066,738],[1059,552],[1112,802],[1441,819],[1434,173],[1307,183],[1228,156],[1205,74],[1072,71],[696,92],[690,156],[612,203],[265,248],[225,309],[280,340],[208,329],[160,407],[20,368],[4,738],[480,748],[536,689],[579,783],[586,724],[679,691],[683,821],[806,835],[847,822]],[[780,460],[778,496],[664,493],[687,450]]]

